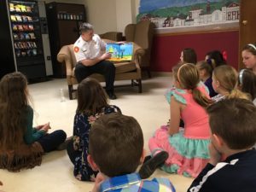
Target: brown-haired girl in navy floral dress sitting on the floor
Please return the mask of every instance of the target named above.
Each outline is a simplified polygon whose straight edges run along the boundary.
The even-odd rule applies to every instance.
[[[95,79],[84,79],[78,86],[78,108],[73,123],[73,141],[67,145],[67,154],[73,162],[74,176],[81,181],[94,181],[97,172],[87,161],[89,131],[102,114],[121,113],[108,104],[108,96]]]

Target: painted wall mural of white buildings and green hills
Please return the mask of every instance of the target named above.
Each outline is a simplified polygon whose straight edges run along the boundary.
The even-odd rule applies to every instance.
[[[141,0],[138,20],[158,28],[207,26],[239,21],[240,0]]]

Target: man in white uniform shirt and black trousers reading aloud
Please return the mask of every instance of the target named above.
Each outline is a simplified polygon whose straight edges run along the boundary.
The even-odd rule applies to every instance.
[[[80,83],[92,73],[104,75],[106,81],[106,92],[109,99],[116,99],[113,92],[115,67],[113,62],[107,61],[110,53],[106,53],[106,44],[94,34],[93,26],[90,23],[83,23],[80,26],[80,37],[73,45],[74,55],[78,64],[75,67],[75,76]]]

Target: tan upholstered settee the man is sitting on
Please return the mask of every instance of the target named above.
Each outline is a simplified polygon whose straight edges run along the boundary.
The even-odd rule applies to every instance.
[[[103,40],[106,43],[113,42],[107,39],[103,39]],[[142,93],[142,75],[141,75],[141,68],[140,68],[139,59],[138,59],[141,54],[140,49],[141,49],[140,46],[138,46],[137,44],[134,44],[134,53],[133,53],[132,61],[114,63],[114,66],[116,67],[115,81],[131,80],[131,86],[137,85],[138,92]],[[63,46],[59,54],[57,55],[57,60],[62,64],[66,65],[69,98],[73,99],[73,93],[76,91],[73,88],[73,85],[78,84],[77,79],[74,76],[74,67],[77,64],[77,61],[73,53],[73,44]],[[91,74],[90,78],[95,78],[99,82],[105,82],[104,77],[98,73]]]

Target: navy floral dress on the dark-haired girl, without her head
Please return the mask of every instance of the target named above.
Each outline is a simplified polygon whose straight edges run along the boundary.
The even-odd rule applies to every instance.
[[[116,106],[110,105],[102,108],[100,113],[80,113],[77,112],[73,124],[73,149],[77,151],[74,163],[74,176],[81,181],[94,181],[97,172],[94,172],[87,161],[89,148],[89,131],[91,125],[102,114],[121,113]],[[79,154],[79,155],[78,155]]]

